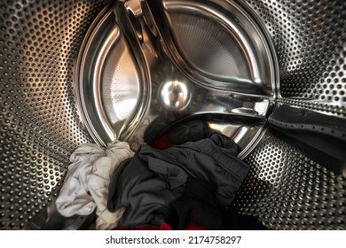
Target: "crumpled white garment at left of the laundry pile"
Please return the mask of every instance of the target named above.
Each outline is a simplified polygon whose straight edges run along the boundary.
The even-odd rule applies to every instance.
[[[70,217],[89,215],[96,208],[96,229],[114,229],[124,209],[111,213],[106,208],[108,186],[114,169],[133,157],[129,143],[114,141],[107,148],[83,143],[70,157],[65,182],[56,201],[58,212]]]

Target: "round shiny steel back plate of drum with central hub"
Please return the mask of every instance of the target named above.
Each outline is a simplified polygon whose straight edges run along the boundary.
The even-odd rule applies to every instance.
[[[279,73],[268,37],[240,5],[221,4],[238,10],[227,17],[228,9],[216,12],[210,4],[165,1],[169,26],[163,29],[172,30],[173,41],[162,34],[166,17],[152,3],[115,3],[98,16],[85,38],[75,80],[91,135],[102,145],[116,138],[130,140],[149,116],[161,123],[151,128],[151,136],[186,118],[209,116],[214,127],[219,121],[248,118],[251,125],[241,125],[242,131],[233,126],[237,128],[231,132],[244,156],[262,133],[276,96]],[[184,60],[177,61],[178,50]],[[90,71],[94,73],[85,73]]]

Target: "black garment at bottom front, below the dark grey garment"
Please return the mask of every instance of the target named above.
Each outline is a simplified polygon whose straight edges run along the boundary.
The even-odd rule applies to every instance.
[[[203,229],[224,229],[214,187],[199,179],[188,177],[183,196],[169,204],[166,222],[175,230],[185,229],[189,223]]]

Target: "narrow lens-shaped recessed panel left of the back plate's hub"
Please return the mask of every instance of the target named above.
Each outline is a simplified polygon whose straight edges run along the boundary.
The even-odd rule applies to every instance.
[[[117,138],[142,94],[135,58],[111,15],[104,10],[91,25],[86,36],[92,39],[84,40],[75,72],[81,82],[75,84],[80,115],[101,145]]]

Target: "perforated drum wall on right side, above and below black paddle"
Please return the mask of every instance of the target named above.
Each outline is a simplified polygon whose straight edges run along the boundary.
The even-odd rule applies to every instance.
[[[346,117],[346,2],[249,0],[276,45],[279,105]],[[270,229],[346,229],[346,178],[268,132],[234,205]]]

